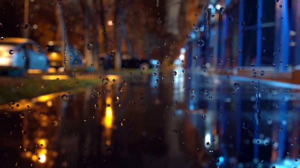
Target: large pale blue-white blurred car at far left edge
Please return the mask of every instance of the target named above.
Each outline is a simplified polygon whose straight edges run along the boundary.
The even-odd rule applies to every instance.
[[[0,40],[0,68],[8,75],[21,75],[28,69],[47,71],[48,59],[39,45],[27,38]]]

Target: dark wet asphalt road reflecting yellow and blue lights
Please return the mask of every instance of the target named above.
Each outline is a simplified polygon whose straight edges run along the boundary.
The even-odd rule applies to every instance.
[[[180,70],[107,78],[0,106],[0,167],[268,168],[298,156],[296,85],[260,80],[257,126],[255,78]]]

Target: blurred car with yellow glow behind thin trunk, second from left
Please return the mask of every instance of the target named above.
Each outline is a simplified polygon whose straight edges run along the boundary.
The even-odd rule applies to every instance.
[[[58,42],[49,41],[49,45],[46,46],[47,56],[50,62],[50,66],[54,68],[63,67],[64,56],[60,54],[60,51],[63,50],[63,47],[59,46]],[[82,55],[79,51],[75,49],[72,45],[68,45],[67,51],[68,56],[72,56],[71,60],[68,60],[68,64],[72,66],[82,65]]]

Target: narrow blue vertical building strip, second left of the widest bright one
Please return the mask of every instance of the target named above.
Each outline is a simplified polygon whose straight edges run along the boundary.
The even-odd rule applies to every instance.
[[[239,22],[243,21],[243,10],[244,8],[244,0],[239,1]],[[242,26],[239,24],[238,25],[238,50],[242,50],[242,43],[243,43],[243,34],[242,34]],[[236,51],[238,52],[238,51]],[[242,52],[238,53],[238,66],[242,66]]]

